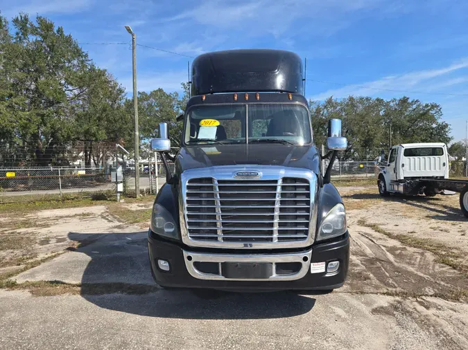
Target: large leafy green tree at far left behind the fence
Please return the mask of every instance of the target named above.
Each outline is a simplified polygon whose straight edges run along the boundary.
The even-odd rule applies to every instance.
[[[121,86],[49,19],[20,14],[12,19],[13,34],[9,28],[0,17],[3,156],[27,151],[31,163],[63,163],[71,142],[81,140],[85,163],[100,163],[102,152],[92,142],[129,138]]]

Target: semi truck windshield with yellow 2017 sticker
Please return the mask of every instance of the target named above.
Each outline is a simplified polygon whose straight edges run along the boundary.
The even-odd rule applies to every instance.
[[[184,140],[198,143],[312,142],[309,113],[292,104],[220,104],[196,106],[189,111]]]

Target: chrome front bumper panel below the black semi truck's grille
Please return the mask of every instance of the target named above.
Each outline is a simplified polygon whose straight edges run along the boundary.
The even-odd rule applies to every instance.
[[[254,254],[205,254],[198,252],[183,251],[185,266],[192,277],[197,279],[222,280],[222,281],[293,281],[301,279],[309,271],[311,266],[312,250],[299,253],[254,255]],[[202,273],[194,266],[194,263],[217,263],[218,274]],[[227,278],[222,274],[223,263],[270,263],[272,264],[272,275],[268,278]],[[295,273],[288,275],[277,275],[276,264],[279,263],[300,263],[301,268]]]

